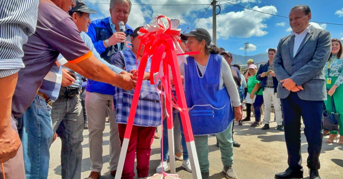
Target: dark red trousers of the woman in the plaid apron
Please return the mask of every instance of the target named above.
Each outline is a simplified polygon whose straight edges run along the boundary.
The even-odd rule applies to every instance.
[[[151,144],[154,140],[156,127],[133,126],[129,141],[128,151],[126,153],[122,179],[133,179],[134,177],[134,159],[137,152],[137,175],[138,178],[149,176],[149,163]],[[118,124],[120,143],[122,145],[126,130],[126,124]]]

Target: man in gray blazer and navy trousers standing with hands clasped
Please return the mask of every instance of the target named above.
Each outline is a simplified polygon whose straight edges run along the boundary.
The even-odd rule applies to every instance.
[[[292,34],[280,39],[273,61],[277,97],[284,116],[288,168],[275,178],[303,178],[301,166],[300,119],[303,117],[308,142],[307,167],[310,179],[320,179],[323,101],[326,100],[323,68],[331,52],[328,31],[309,24],[311,10],[296,5],[289,13]]]

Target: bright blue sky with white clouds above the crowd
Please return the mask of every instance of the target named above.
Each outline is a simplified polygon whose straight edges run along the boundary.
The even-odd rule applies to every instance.
[[[92,20],[109,16],[110,0],[85,0],[90,8],[100,13],[91,16]],[[288,18],[263,14],[227,2],[258,11],[287,16],[289,10],[297,4],[307,4],[312,11],[312,23],[317,28],[331,32],[332,38],[343,39],[343,0],[227,0],[220,1],[221,12],[217,15],[217,45],[226,51],[244,55],[242,47],[250,43],[248,55],[264,53],[270,47],[276,48],[281,37],[290,33]],[[105,3],[105,4],[92,4]],[[210,0],[132,0],[133,4],[209,4]],[[226,4],[224,4],[226,3]],[[170,19],[180,19],[179,27],[189,32],[194,28],[205,28],[212,35],[212,7],[199,19],[207,5],[157,6],[132,5],[128,25],[132,28],[149,23],[156,15],[166,15]],[[189,29],[188,29],[189,27]]]

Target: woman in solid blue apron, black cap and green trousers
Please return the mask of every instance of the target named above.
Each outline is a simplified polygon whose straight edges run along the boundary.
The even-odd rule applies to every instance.
[[[180,65],[185,76],[185,95],[202,179],[209,179],[208,135],[216,134],[219,141],[223,172],[226,178],[237,178],[233,165],[232,123],[240,120],[240,99],[228,63],[211,46],[211,36],[203,28],[192,30],[187,37],[190,52],[187,65]],[[231,104],[235,107],[232,111]],[[181,128],[182,129],[182,128]]]

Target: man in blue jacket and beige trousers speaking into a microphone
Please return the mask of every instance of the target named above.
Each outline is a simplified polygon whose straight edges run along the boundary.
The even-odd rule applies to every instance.
[[[92,39],[96,51],[107,62],[111,62],[112,56],[123,48],[130,49],[130,42],[133,29],[124,25],[124,31],[120,32],[119,22],[127,23],[131,11],[130,0],[111,0],[110,17],[93,21],[87,35]],[[91,174],[89,179],[97,179],[103,167],[103,132],[105,129],[106,117],[110,123],[110,173],[116,175],[119,154],[120,140],[118,125],[115,120],[113,109],[113,95],[115,87],[93,80],[88,80],[86,86],[86,112],[88,118],[89,146],[91,160]]]

